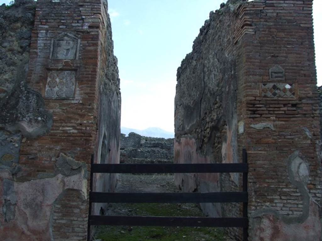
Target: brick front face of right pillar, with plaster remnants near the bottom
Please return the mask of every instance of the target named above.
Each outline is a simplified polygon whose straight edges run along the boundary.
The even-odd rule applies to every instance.
[[[320,237],[314,203],[321,201],[321,157],[312,2],[254,1],[239,12],[251,22],[250,34],[241,40],[240,112],[250,165],[250,217],[262,218],[251,221],[251,240]],[[277,224],[285,230],[274,230]],[[270,233],[262,233],[263,227]]]

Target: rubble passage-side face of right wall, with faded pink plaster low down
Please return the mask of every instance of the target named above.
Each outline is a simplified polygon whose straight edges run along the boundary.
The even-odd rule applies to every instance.
[[[194,40],[193,50],[177,71],[175,95],[175,163],[236,163],[237,59],[234,23],[238,4],[211,12]],[[230,192],[238,174],[175,175],[183,191]],[[210,216],[239,215],[238,204],[201,204]],[[230,230],[236,236],[238,230]]]

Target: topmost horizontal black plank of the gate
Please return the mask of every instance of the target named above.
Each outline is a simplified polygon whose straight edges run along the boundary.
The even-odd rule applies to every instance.
[[[93,164],[92,173],[246,173],[247,163]]]

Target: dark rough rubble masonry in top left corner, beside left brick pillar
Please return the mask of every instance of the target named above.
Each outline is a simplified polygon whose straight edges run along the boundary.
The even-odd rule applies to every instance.
[[[17,88],[19,68],[28,63],[36,3],[15,1],[0,6],[0,103]]]

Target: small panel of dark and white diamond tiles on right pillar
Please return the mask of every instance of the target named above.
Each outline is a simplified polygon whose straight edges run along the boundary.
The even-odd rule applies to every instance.
[[[261,84],[261,96],[265,98],[295,98],[295,84],[267,83]]]

